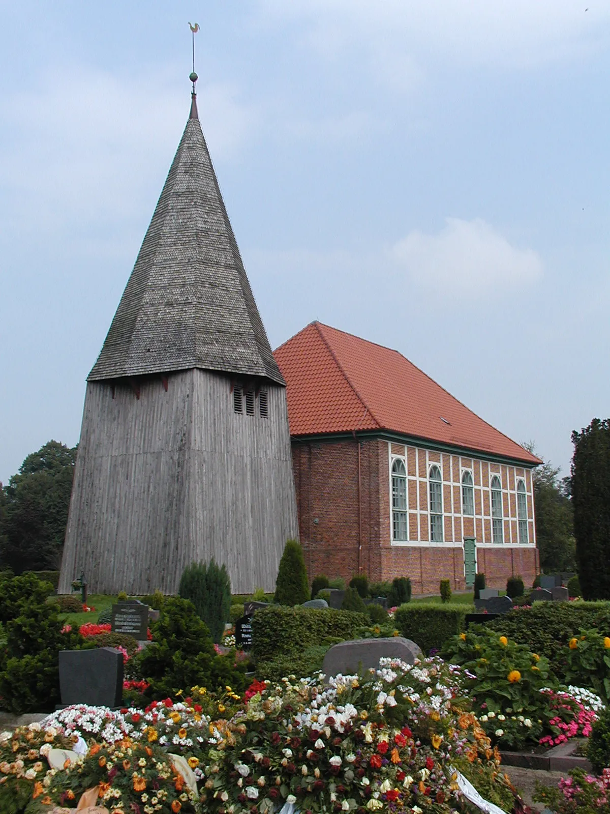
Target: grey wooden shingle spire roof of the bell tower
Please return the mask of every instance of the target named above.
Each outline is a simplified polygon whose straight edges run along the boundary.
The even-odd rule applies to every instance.
[[[190,117],[89,381],[203,368],[284,384]]]

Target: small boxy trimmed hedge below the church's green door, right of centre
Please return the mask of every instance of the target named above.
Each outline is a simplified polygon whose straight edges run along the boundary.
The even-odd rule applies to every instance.
[[[424,654],[441,650],[448,638],[465,630],[469,606],[422,603],[401,605],[394,613],[394,623],[407,639],[415,641]]]

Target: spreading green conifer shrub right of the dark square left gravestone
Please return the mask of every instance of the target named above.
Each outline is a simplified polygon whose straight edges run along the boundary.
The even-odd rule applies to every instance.
[[[176,698],[195,685],[209,690],[229,685],[237,693],[244,688],[245,666],[234,665],[233,652],[216,654],[207,624],[189,600],[168,597],[150,628],[153,641],[133,656],[132,667],[150,685],[146,698]]]

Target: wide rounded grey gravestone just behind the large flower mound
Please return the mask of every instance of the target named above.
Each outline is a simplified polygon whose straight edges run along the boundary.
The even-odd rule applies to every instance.
[[[359,670],[378,667],[379,659],[401,659],[407,664],[414,664],[421,659],[420,647],[411,639],[393,636],[387,639],[356,639],[341,641],[326,651],[322,672],[329,676],[351,676]]]

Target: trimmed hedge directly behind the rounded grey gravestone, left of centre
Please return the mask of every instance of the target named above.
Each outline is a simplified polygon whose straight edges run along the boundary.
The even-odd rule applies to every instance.
[[[342,641],[353,639],[359,628],[369,623],[367,614],[351,610],[285,605],[261,608],[252,617],[252,655],[258,663],[277,656],[301,654],[329,637]]]

